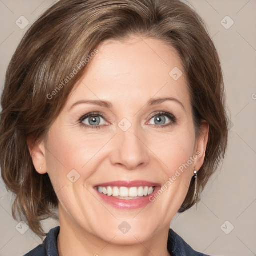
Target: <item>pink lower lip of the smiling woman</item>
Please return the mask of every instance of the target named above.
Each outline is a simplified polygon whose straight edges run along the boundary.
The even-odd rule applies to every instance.
[[[118,209],[138,209],[141,207],[146,206],[149,204],[151,201],[149,198],[152,198],[155,193],[160,189],[161,187],[156,186],[154,191],[147,196],[143,196],[141,198],[137,199],[130,199],[130,200],[123,200],[123,199],[118,199],[114,196],[108,196],[103,193],[99,193],[98,190],[95,188],[97,194],[99,197],[105,201],[106,203],[110,204],[112,207],[118,208]]]

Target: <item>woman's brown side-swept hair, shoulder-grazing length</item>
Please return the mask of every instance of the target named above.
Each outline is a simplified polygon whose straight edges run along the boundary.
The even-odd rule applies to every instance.
[[[27,138],[36,142],[47,133],[86,68],[82,64],[65,80],[78,63],[84,63],[100,42],[134,34],[164,40],[176,49],[190,90],[196,134],[202,120],[209,124],[199,192],[224,156],[227,118],[220,61],[203,21],[190,7],[179,0],[60,0],[21,40],[1,97],[1,175],[16,194],[13,217],[18,213],[39,236],[45,235],[40,221],[56,217],[58,199],[48,174],[35,170]],[[193,191],[192,178],[179,212],[199,200],[199,192],[193,199]]]

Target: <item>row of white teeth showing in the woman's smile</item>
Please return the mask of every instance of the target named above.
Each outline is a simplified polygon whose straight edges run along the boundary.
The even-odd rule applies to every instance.
[[[132,197],[133,199],[139,198],[141,196],[147,196],[154,191],[154,187],[150,186],[139,186],[139,187],[125,187],[125,186],[98,186],[97,190],[99,193],[103,193],[108,196],[115,196],[119,199],[128,199]]]

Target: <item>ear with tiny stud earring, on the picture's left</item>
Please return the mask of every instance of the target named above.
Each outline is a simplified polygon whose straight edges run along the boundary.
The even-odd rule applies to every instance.
[[[46,173],[44,141],[34,142],[32,137],[28,137],[26,141],[35,170],[40,174]]]

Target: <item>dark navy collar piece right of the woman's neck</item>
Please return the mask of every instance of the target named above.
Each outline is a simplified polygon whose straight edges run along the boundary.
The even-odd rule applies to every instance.
[[[209,256],[192,249],[177,233],[169,229],[168,251],[173,256]],[[171,254],[171,255],[172,255]]]

